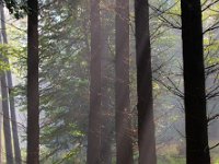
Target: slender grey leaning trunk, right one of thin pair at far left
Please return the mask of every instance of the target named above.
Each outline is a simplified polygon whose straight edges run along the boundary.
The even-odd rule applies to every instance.
[[[7,38],[7,31],[5,31],[5,17],[3,8],[1,8],[1,32],[3,37],[3,44],[8,44]],[[7,63],[9,65],[9,59],[7,58]],[[18,134],[18,126],[16,126],[16,114],[14,107],[14,97],[12,95],[13,83],[12,83],[12,74],[11,71],[7,71],[7,82],[8,82],[8,90],[9,90],[9,97],[10,97],[10,112],[11,112],[11,122],[12,122],[12,134],[13,134],[13,147],[15,153],[15,162],[16,164],[21,164],[21,150],[19,144],[19,134]]]

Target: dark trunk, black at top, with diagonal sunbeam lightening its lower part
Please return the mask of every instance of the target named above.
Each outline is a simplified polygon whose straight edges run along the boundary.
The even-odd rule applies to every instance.
[[[155,164],[148,0],[135,1],[139,163]]]

